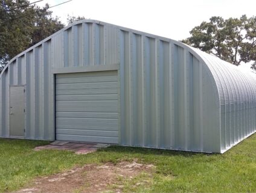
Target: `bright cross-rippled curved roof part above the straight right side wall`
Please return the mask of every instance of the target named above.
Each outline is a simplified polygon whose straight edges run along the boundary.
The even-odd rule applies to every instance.
[[[254,100],[256,76],[252,72],[238,69],[231,63],[207,54],[199,49],[192,49],[199,54],[213,73],[220,94],[220,104],[251,102]],[[254,79],[255,81],[252,81]]]

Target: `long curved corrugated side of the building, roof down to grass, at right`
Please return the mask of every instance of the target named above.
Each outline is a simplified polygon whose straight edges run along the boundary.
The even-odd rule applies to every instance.
[[[198,51],[196,51],[198,52]],[[256,77],[200,52],[216,81],[221,109],[222,152],[255,132]]]

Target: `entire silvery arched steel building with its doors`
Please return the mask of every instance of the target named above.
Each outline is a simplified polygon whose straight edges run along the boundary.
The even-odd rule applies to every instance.
[[[2,137],[223,153],[256,129],[256,75],[96,20],[30,47],[0,76]]]

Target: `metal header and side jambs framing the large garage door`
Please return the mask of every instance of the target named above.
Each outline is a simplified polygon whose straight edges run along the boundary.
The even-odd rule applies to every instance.
[[[97,65],[97,66],[80,66],[80,67],[61,67],[53,69],[54,78],[54,139],[57,138],[57,124],[56,124],[56,75],[63,73],[86,73],[86,72],[105,72],[117,70],[117,84],[118,84],[118,144],[120,144],[120,64]]]

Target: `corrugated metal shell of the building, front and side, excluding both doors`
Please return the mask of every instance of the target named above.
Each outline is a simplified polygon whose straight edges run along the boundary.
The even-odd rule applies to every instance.
[[[255,132],[255,75],[178,41],[83,20],[5,67],[1,136],[9,136],[9,85],[26,85],[25,138],[54,139],[53,69],[113,64],[122,145],[225,152]]]

